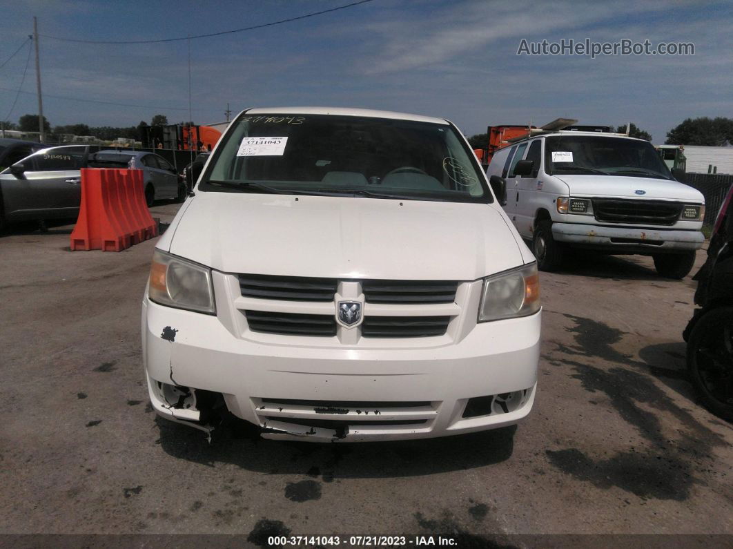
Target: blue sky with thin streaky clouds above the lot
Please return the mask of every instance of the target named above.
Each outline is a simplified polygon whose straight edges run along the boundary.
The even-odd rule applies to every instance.
[[[350,0],[15,1],[2,8],[0,63],[32,33],[147,40],[253,26]],[[251,32],[191,41],[194,122],[248,106],[356,106],[487,125],[636,122],[661,143],[688,117],[733,117],[733,3],[373,0]],[[517,56],[520,40],[692,42],[694,56]],[[0,69],[0,119],[27,49]],[[51,125],[188,119],[188,45],[40,39]],[[33,58],[8,117],[36,113]],[[73,97],[76,100],[51,96]],[[84,100],[136,106],[113,106]]]

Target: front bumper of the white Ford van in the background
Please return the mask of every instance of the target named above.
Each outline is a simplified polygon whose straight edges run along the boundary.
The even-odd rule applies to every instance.
[[[579,223],[554,223],[552,234],[557,242],[618,253],[698,250],[705,241],[704,235],[698,230],[639,229]]]

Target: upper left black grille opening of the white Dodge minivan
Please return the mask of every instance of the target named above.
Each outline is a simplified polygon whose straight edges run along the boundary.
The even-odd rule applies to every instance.
[[[239,287],[247,298],[286,301],[334,301],[336,279],[305,276],[240,274]]]

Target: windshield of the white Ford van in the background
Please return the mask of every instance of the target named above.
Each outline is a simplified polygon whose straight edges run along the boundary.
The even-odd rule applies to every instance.
[[[552,136],[545,139],[548,174],[626,175],[671,180],[649,141],[608,136]]]

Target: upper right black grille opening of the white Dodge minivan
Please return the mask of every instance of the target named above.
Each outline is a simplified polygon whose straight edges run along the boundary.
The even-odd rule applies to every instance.
[[[456,281],[364,280],[361,283],[367,303],[453,303]]]

